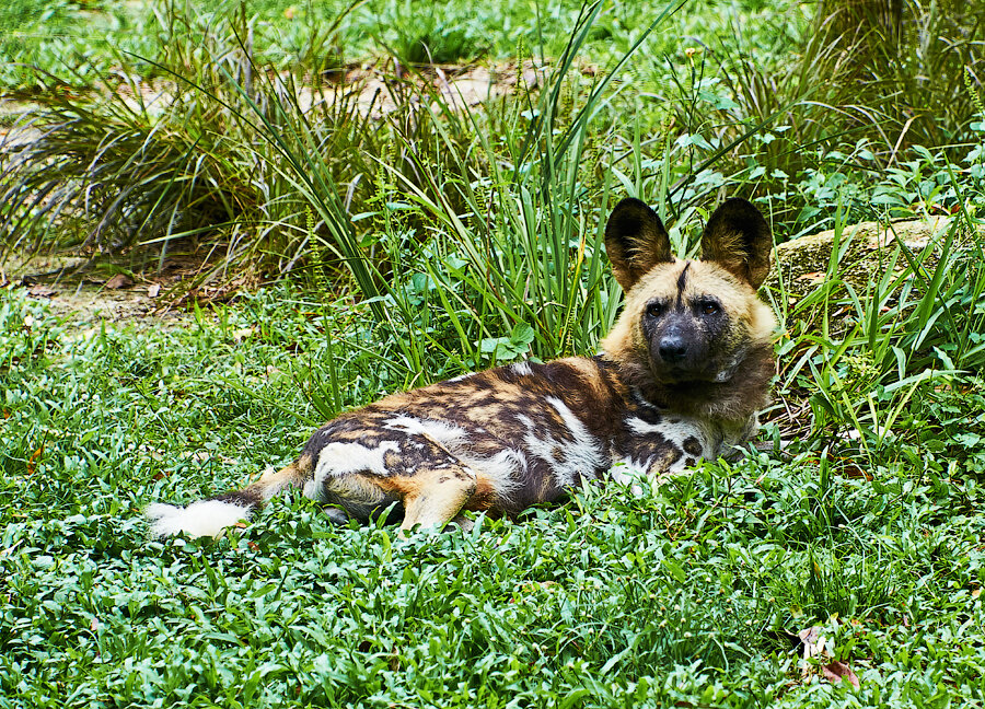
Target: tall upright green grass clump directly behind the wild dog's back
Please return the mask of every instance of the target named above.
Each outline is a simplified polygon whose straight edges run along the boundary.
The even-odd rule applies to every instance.
[[[419,369],[420,353],[434,347],[467,367],[583,352],[607,329],[618,299],[600,279],[601,216],[613,188],[603,167],[611,160],[603,141],[612,128],[600,116],[617,72],[679,5],[669,4],[594,85],[580,84],[572,67],[601,3],[584,9],[535,98],[503,100],[488,115],[455,114],[437,103],[438,109],[420,117],[431,124],[431,150],[395,130],[412,166],[399,172],[381,161],[371,218],[387,268],[405,277],[381,278],[379,264],[362,248],[344,257],[360,290],[386,304],[381,314],[409,333],[413,369]],[[454,142],[463,133],[475,137],[468,152]],[[437,164],[433,154],[448,155],[449,164]],[[467,162],[470,154],[478,155],[477,167]],[[309,174],[323,172],[309,164]],[[331,188],[311,193],[326,221],[333,213],[344,219],[331,201],[323,205],[323,195],[333,194]],[[412,224],[426,233],[417,234]],[[363,274],[356,272],[357,265]],[[421,327],[434,310],[445,316],[443,332]]]

